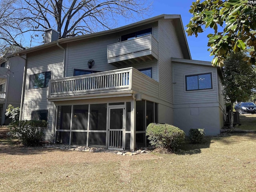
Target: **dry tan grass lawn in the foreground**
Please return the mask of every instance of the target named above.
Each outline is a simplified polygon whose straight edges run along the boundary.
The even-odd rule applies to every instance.
[[[225,134],[176,154],[118,156],[0,141],[0,191],[256,191],[256,134]]]

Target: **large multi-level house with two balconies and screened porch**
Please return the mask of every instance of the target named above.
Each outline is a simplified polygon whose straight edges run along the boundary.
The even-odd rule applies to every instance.
[[[147,145],[151,122],[220,133],[220,69],[191,60],[180,15],[60,40],[56,33],[17,53],[26,55],[20,119],[47,120],[46,140],[133,150]]]

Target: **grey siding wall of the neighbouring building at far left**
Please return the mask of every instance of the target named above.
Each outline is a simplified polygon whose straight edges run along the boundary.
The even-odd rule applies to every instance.
[[[8,104],[16,104],[20,106],[25,60],[18,56],[14,56],[8,58],[8,62],[11,73],[8,77],[6,106],[8,106]]]

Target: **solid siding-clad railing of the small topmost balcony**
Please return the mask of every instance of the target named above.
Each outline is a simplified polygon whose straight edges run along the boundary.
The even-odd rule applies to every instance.
[[[158,42],[152,34],[108,45],[108,59],[146,50],[158,52]]]

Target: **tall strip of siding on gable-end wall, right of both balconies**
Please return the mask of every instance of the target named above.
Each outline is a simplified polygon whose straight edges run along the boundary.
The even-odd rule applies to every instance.
[[[160,99],[173,103],[171,58],[183,58],[183,55],[171,20],[160,20],[158,33]]]

